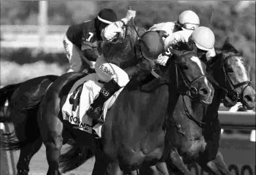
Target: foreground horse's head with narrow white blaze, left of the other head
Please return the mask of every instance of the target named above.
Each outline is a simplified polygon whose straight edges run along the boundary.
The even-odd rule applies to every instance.
[[[205,74],[206,65],[197,57],[197,54],[192,49],[188,48],[186,43],[181,43],[181,45],[178,47],[179,50],[171,50],[172,57],[167,62],[167,64],[175,65],[176,77],[174,79],[176,79],[176,85],[184,85],[188,89],[186,94],[190,98],[197,98],[203,104],[211,104],[214,89],[207,80]],[[173,67],[171,66],[170,69],[173,69]],[[180,90],[180,87],[177,88]]]

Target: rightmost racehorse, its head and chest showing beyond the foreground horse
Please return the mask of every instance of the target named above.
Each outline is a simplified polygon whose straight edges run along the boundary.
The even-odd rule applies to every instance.
[[[231,174],[219,151],[221,128],[218,121],[218,108],[221,102],[226,107],[242,102],[246,109],[253,109],[255,90],[251,86],[249,71],[242,54],[229,43],[228,39],[221,52],[207,63],[207,73],[215,88],[213,103],[203,106],[184,96],[179,98],[174,110],[173,119],[175,123],[180,123],[184,136],[174,134],[176,130],[170,126],[170,134],[175,135],[169,137],[172,138],[170,140],[174,146],[172,149],[176,150],[181,158],[167,159],[170,174],[180,172],[177,169],[179,166],[177,163],[180,165],[198,163],[203,170],[211,174]],[[161,163],[156,166],[164,172],[163,167],[166,166],[160,165]],[[155,170],[158,174],[155,167],[151,167],[151,172],[148,170],[141,171],[143,174],[153,174],[152,170]]]

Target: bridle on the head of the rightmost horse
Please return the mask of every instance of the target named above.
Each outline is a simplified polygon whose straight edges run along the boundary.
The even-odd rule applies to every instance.
[[[224,79],[225,79],[225,83],[228,83],[230,88],[231,89],[228,89],[228,88],[224,88],[220,85],[218,85],[218,83],[212,78],[210,77],[209,75],[207,75],[207,78],[214,84],[216,85],[218,88],[221,88],[222,90],[224,90],[225,94],[228,95],[229,98],[231,98],[232,100],[234,101],[238,101],[238,102],[241,102],[242,98],[243,98],[243,91],[245,90],[245,88],[247,87],[251,87],[251,80],[250,81],[243,81],[242,83],[238,83],[236,85],[234,85],[234,83],[232,83],[230,77],[228,76],[228,73],[226,71],[226,62],[229,58],[232,58],[234,56],[242,56],[241,54],[235,54],[235,55],[230,55],[230,56],[227,56],[226,58],[222,59],[221,60],[221,68],[222,68],[222,71],[224,73]],[[211,65],[211,64],[215,64],[213,63],[214,60],[212,60],[211,62],[207,63],[207,66],[208,65]],[[241,87],[242,85],[246,85],[243,89],[242,89],[242,92],[239,94],[238,92],[236,92],[236,88],[239,88]]]

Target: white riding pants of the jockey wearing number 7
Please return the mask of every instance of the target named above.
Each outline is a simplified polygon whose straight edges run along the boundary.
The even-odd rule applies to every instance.
[[[68,62],[70,64],[70,71],[76,71],[76,72],[82,72],[84,69],[82,68],[82,56],[83,53],[82,51],[76,47],[67,37],[64,35],[63,38],[63,45],[64,45],[64,50],[66,52],[66,57],[68,58]],[[91,68],[94,67],[96,62],[89,61]]]

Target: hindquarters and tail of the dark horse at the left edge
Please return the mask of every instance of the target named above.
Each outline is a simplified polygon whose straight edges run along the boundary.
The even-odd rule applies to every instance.
[[[5,102],[8,100],[9,117],[15,131],[15,133],[4,134],[6,137],[1,137],[1,147],[11,151],[20,149],[16,165],[18,174],[28,174],[30,160],[43,144],[36,121],[38,105],[41,96],[57,77],[59,76],[36,77],[0,89],[0,107],[3,111]]]

